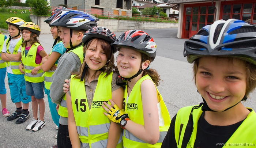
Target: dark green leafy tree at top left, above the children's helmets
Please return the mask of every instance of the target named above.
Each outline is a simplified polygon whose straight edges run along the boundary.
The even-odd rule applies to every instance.
[[[46,0],[31,0],[29,7],[32,8],[32,11],[37,16],[48,16],[50,15],[50,6],[47,6],[48,4]]]

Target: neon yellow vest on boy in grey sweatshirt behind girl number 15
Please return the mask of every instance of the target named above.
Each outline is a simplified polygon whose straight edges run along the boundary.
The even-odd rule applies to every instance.
[[[83,46],[78,46],[76,49],[70,50],[69,52],[75,53],[81,61],[81,64],[83,63]],[[59,106],[59,111],[58,114],[61,117],[68,117],[68,109],[67,109],[67,102],[66,102],[66,94],[63,96],[60,106]]]

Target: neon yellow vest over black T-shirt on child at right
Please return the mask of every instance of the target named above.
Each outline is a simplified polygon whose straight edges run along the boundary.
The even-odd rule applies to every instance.
[[[175,133],[175,140],[178,148],[181,148],[185,129],[188,124],[188,119],[189,119],[189,115],[191,113],[192,107],[193,106],[183,107],[177,113],[174,133]],[[246,143],[254,144],[253,147],[255,147],[256,114],[254,110],[250,108],[247,108],[247,109],[251,110],[251,113],[248,114],[247,118],[242,122],[242,124],[237,128],[237,130],[229,138],[229,140],[226,142],[226,146],[223,146],[222,148],[230,148],[230,146],[232,146],[233,144],[246,144]],[[203,111],[201,110],[201,107],[199,109],[193,110],[193,132],[191,134],[189,143],[187,144],[187,148],[194,147],[194,143],[196,140],[196,132],[197,132],[197,122],[202,113]]]

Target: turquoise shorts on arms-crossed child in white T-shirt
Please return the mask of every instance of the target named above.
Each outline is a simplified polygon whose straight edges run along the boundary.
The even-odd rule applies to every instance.
[[[7,76],[12,102],[18,103],[21,101],[25,104],[31,102],[31,96],[26,95],[24,75],[7,73]]]

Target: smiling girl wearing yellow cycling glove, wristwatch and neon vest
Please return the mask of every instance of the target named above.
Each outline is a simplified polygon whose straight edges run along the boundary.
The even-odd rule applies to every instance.
[[[141,30],[129,30],[114,42],[119,53],[119,77],[126,80],[124,109],[111,102],[102,106],[104,114],[121,125],[125,148],[160,148],[170,124],[170,115],[157,87],[161,80],[149,65],[156,56],[157,45]],[[120,84],[120,83],[119,83]]]

